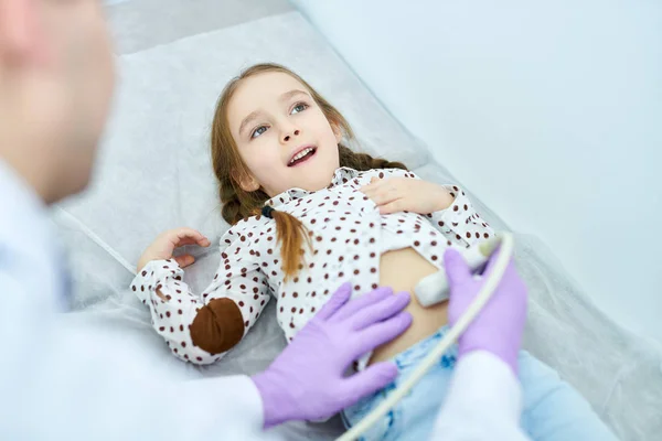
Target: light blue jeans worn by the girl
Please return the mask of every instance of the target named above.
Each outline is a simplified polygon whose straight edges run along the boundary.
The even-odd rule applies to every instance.
[[[442,327],[428,338],[396,355],[394,361],[399,373],[394,383],[345,409],[343,411],[345,426],[349,428],[357,423],[385,400],[404,378],[412,374],[418,362],[439,343],[447,331],[447,327]],[[429,440],[456,361],[457,347],[453,347],[362,439]],[[588,402],[570,385],[560,380],[556,372],[524,351],[520,353],[519,364],[523,391],[521,426],[532,440],[616,440]]]

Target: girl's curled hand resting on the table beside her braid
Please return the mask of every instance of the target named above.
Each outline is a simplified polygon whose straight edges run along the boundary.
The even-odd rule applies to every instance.
[[[211,243],[210,239],[204,237],[200,232],[192,228],[177,228],[163,232],[149,247],[147,247],[145,252],[142,252],[142,256],[140,256],[140,259],[138,260],[138,272],[152,260],[168,260],[174,258],[181,268],[188,267],[195,261],[193,256],[172,256],[177,248],[183,247],[184,245],[209,247]]]

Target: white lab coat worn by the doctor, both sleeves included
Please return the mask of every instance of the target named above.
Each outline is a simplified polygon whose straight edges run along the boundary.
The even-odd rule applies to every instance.
[[[0,439],[278,439],[248,377],[174,381],[130,341],[55,325],[68,287],[46,207],[1,159],[0,196]],[[522,439],[519,385],[490,357],[459,362],[433,439]]]

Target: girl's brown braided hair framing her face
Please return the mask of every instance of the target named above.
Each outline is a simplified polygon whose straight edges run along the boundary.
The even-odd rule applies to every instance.
[[[232,137],[227,123],[227,107],[234,96],[241,82],[245,78],[267,73],[278,72],[290,75],[300,82],[312,99],[320,107],[331,127],[342,133],[343,140],[354,139],[354,132],[349,122],[340,112],[329,104],[320,94],[318,94],[299,75],[287,67],[263,63],[256,64],[235,78],[233,78],[223,89],[216,104],[216,112],[212,125],[212,165],[214,173],[218,179],[218,194],[223,204],[223,218],[231,225],[236,224],[243,218],[258,215],[263,205],[269,200],[269,196],[261,190],[246,192],[242,189],[239,182],[242,179],[250,175],[250,172],[242,157],[239,155],[237,144]],[[404,169],[407,168],[401,162],[389,162],[385,159],[373,158],[366,153],[354,152],[343,143],[338,144],[340,166],[349,166],[359,171],[371,169]],[[303,240],[310,246],[309,235],[299,219],[281,211],[271,212],[276,220],[277,240],[281,246],[282,270],[286,279],[297,273],[303,268],[302,256],[305,254],[301,245]]]

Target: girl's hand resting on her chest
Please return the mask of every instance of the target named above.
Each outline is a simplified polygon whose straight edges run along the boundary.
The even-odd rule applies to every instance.
[[[381,214],[429,214],[448,208],[455,201],[441,185],[410,178],[373,178],[361,191],[377,205]]]

